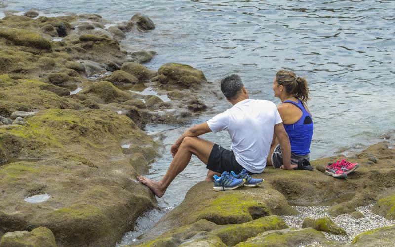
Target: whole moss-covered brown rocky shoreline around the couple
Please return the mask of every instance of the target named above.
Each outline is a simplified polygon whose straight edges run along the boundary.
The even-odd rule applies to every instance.
[[[111,23],[31,10],[0,20],[0,247],[114,246],[157,207],[134,179],[162,152],[160,134],[144,133],[145,124],[183,123],[222,96],[200,70],[167,63],[152,71],[142,63],[155,52],[122,47],[126,35],[154,28],[142,14]],[[289,228],[280,216],[323,205],[331,216],[352,215],[373,203],[374,213],[394,220],[394,157],[375,144],[353,157],[361,167],[347,180],[323,174],[339,158],[331,157],[312,162],[313,172],[267,169],[256,175],[266,180],[258,188],[214,192],[200,182],[141,245],[349,245],[314,222]],[[40,195],[48,197],[26,201]],[[353,244],[390,246],[394,232],[362,233]]]

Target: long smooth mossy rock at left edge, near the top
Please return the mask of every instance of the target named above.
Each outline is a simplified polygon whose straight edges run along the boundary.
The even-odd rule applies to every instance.
[[[51,49],[51,42],[41,35],[24,29],[0,28],[0,37],[7,39],[15,45],[23,45],[38,49]]]

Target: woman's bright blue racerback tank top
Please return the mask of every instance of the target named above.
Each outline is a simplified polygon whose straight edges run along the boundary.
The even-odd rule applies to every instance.
[[[284,124],[291,143],[291,152],[297,155],[307,155],[310,153],[310,143],[313,137],[312,116],[299,99],[298,103],[290,100],[285,100],[284,103],[291,103],[302,111],[302,117],[294,124]]]

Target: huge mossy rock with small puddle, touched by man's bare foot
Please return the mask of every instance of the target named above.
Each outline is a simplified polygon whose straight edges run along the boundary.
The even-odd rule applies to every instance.
[[[0,128],[0,136],[0,150],[8,159],[40,159],[1,166],[0,236],[43,225],[59,246],[114,246],[156,205],[152,192],[131,179],[138,175],[130,163],[133,155],[123,154],[119,143],[156,144],[124,115],[45,109],[29,125]],[[41,193],[52,196],[40,204],[23,200]]]

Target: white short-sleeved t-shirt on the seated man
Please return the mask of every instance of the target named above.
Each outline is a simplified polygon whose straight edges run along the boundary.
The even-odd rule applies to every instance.
[[[207,121],[214,133],[227,130],[236,161],[252,173],[266,167],[274,126],[282,123],[273,102],[245,99]]]

